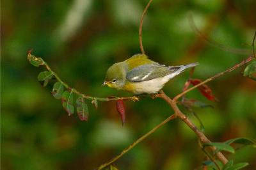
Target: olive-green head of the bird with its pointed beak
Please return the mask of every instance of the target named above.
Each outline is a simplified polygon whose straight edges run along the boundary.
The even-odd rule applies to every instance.
[[[125,66],[124,63],[115,63],[108,68],[105,81],[102,86],[109,86],[109,88],[122,89],[125,84]]]

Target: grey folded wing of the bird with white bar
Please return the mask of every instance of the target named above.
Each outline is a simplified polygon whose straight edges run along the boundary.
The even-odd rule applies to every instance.
[[[181,66],[165,66],[159,63],[141,65],[127,72],[126,78],[131,82],[141,82],[164,77],[179,71]]]

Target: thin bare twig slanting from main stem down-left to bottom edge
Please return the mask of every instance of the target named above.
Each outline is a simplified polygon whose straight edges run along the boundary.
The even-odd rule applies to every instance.
[[[162,121],[161,123],[159,123],[156,127],[152,128],[152,130],[150,130],[149,132],[147,132],[147,134],[141,136],[139,139],[137,139],[134,143],[132,143],[130,146],[128,146],[127,148],[125,148],[119,155],[117,155],[116,157],[112,158],[111,160],[109,160],[108,162],[106,162],[105,164],[102,164],[101,166],[99,166],[97,169],[103,169],[104,167],[109,166],[110,164],[112,164],[113,162],[115,162],[116,160],[118,160],[118,158],[122,157],[125,153],[127,153],[127,151],[131,150],[132,148],[134,148],[134,146],[136,146],[137,144],[139,144],[141,141],[143,141],[143,139],[145,139],[146,137],[148,137],[148,135],[154,133],[158,128],[162,127],[165,123],[167,123],[170,120],[173,120],[177,118],[176,114],[172,114],[172,116],[168,117],[166,120]]]

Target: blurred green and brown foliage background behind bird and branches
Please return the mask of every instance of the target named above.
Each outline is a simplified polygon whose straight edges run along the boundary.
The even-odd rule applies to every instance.
[[[96,97],[131,96],[102,88],[106,70],[140,52],[138,25],[146,0],[1,1],[1,169],[94,169],[173,113],[160,99],[125,102],[122,127],[115,102],[89,105],[88,122],[68,116],[50,88],[36,77],[26,52],[34,49],[54,72],[79,91]],[[143,26],[146,53],[159,63],[182,65],[198,61],[193,77],[206,79],[235,65],[246,54],[232,54],[204,43],[196,26],[211,40],[251,50],[256,27],[255,0],[156,0]],[[256,83],[241,74],[244,67],[209,83],[220,102],[197,98],[214,109],[195,109],[211,141],[234,137],[256,139]],[[174,97],[189,72],[164,87]],[[198,125],[193,116],[180,107]],[[246,146],[226,154],[255,169],[256,150]],[[120,158],[120,169],[200,169],[204,153],[195,134],[174,120]]]

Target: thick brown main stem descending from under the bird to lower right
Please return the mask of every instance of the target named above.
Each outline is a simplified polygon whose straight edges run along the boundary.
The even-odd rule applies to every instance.
[[[195,132],[195,134],[200,139],[201,143],[211,143],[211,141],[204,135],[204,133],[198,130],[198,128],[189,120],[189,118],[180,111],[179,107],[177,107],[177,103],[175,102],[175,100],[172,100],[171,98],[169,98],[163,92],[163,90],[159,93],[159,95],[157,95],[157,97],[163,98],[172,107],[172,109],[175,111],[176,116],[180,118],[182,121],[184,121],[184,123],[186,123],[186,125],[188,125],[188,127]],[[211,150],[216,151],[216,148],[211,147]],[[227,164],[228,162],[227,158],[225,158],[225,156],[220,151],[216,153],[216,157],[218,157],[218,159],[223,164]]]

